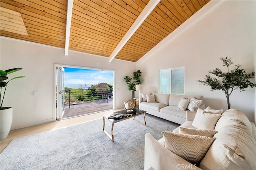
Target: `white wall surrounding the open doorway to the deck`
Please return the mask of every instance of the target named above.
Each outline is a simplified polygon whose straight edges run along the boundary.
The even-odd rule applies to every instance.
[[[116,108],[132,97],[124,81],[132,76],[135,63],[98,57],[75,51],[64,55],[64,49],[1,37],[1,69],[23,68],[10,76],[26,76],[8,85],[3,106],[13,107],[11,129],[28,127],[53,120],[54,64],[102,68],[115,71],[114,98]],[[15,81],[15,82],[14,82]],[[119,90],[118,90],[119,89]],[[36,96],[32,96],[32,91]]]

